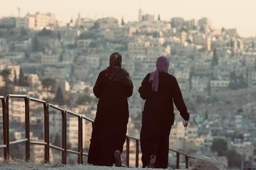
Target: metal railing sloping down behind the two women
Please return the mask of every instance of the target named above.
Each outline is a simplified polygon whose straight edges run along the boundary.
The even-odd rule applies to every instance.
[[[52,105],[51,103],[46,103],[44,100],[35,99],[33,97],[27,97],[27,95],[17,95],[17,94],[8,94],[6,97],[0,95],[2,102],[2,134],[3,134],[3,144],[0,145],[0,149],[4,150],[4,159],[9,160],[10,158],[10,146],[15,144],[25,143],[25,161],[30,160],[30,145],[44,145],[45,146],[45,163],[50,162],[49,148],[54,148],[59,150],[62,153],[61,163],[67,164],[67,153],[73,153],[77,155],[77,163],[83,164],[83,156],[88,156],[88,153],[83,152],[83,121],[89,121],[93,124],[93,120],[85,116],[79,115],[69,110],[64,110],[63,108]],[[11,99],[23,99],[25,102],[25,138],[10,141],[9,139],[9,104]],[[44,142],[31,141],[30,140],[30,101],[41,103],[43,105],[43,114],[44,114]],[[49,109],[53,109],[61,112],[61,147],[53,145],[49,142]],[[77,150],[67,149],[67,115],[74,116],[77,118],[78,123],[78,145]],[[0,132],[1,133],[1,132]],[[90,140],[90,139],[88,139]],[[129,157],[130,157],[130,140],[135,142],[135,167],[139,167],[139,144],[140,140],[134,137],[126,137],[126,163],[122,166],[129,166]],[[178,152],[177,150],[169,148],[169,151],[176,153],[176,168],[179,168],[180,155],[185,156],[186,168],[189,168],[189,158],[195,158],[194,156],[189,156],[186,153]]]

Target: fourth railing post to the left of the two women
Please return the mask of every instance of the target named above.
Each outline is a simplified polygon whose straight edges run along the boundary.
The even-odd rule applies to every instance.
[[[28,97],[24,98],[25,100],[25,138],[27,141],[25,142],[26,145],[26,161],[30,160],[30,121],[29,121],[29,103],[30,99]]]

